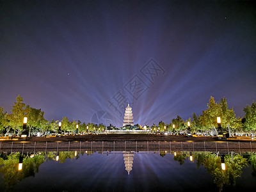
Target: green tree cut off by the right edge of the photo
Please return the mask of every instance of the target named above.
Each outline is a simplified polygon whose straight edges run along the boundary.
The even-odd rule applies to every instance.
[[[253,102],[252,106],[244,108],[244,131],[250,131],[253,136],[256,132],[256,103]]]

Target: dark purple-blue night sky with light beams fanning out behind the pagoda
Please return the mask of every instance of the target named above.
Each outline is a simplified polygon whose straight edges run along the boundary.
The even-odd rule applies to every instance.
[[[0,106],[121,126],[256,101],[253,1],[0,1]]]

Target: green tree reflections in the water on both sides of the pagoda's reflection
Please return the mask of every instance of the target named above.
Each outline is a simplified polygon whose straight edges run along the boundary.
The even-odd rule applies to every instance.
[[[78,159],[79,156],[93,155],[94,152],[84,151],[78,152],[60,152],[59,161],[65,163],[67,159]],[[6,189],[12,189],[12,187],[26,177],[33,176],[38,173],[40,164],[45,161],[56,161],[56,152],[50,152],[47,154],[26,154],[23,156],[22,170],[18,170],[19,157],[21,154],[0,154],[0,173],[3,173],[4,183]],[[166,157],[166,151],[159,152],[159,155]],[[196,164],[196,168],[200,168],[201,165],[205,167],[207,173],[211,174],[216,186],[220,191],[225,186],[235,186],[237,177],[241,177],[242,169],[247,164],[251,164],[253,169],[253,175],[256,177],[256,153],[248,153],[241,156],[239,154],[226,154],[225,164],[226,170],[221,170],[221,157],[218,154],[212,154],[211,152],[195,152],[189,154],[189,152],[182,152],[173,156],[175,161],[178,161],[180,165],[184,164],[186,158],[193,156],[193,162]]]

